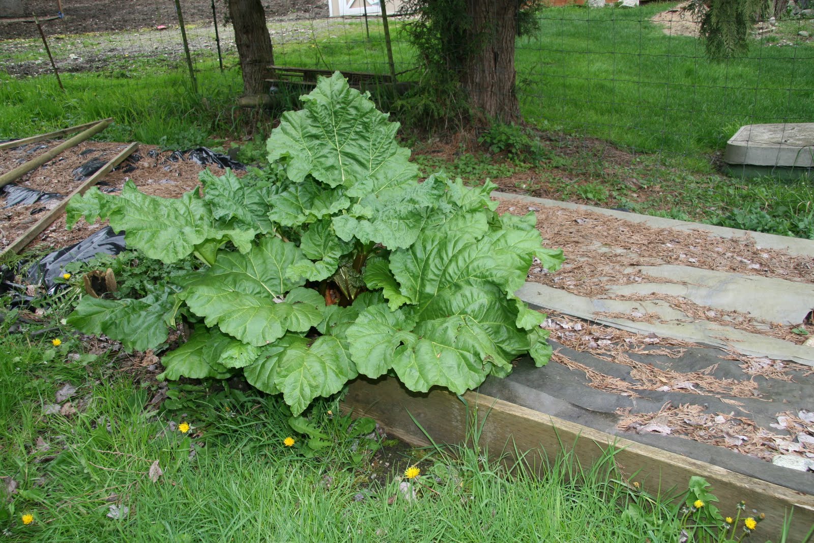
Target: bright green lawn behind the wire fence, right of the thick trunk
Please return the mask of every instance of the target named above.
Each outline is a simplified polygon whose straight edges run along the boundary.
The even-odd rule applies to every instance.
[[[748,55],[717,62],[701,40],[650,22],[675,5],[541,11],[540,32],[517,46],[526,120],[639,151],[697,155],[724,147],[741,125],[814,119],[814,41],[797,36],[811,30],[806,20],[781,21]],[[793,45],[777,46],[781,38]]]

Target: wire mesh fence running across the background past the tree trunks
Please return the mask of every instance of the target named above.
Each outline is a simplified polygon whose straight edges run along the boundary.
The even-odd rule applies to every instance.
[[[56,15],[58,7],[50,0],[22,3],[42,19]],[[377,3],[362,5],[370,7],[366,17],[329,16],[335,7],[327,0],[264,3],[277,65],[395,71],[400,81],[421,77],[402,31],[409,15],[389,18],[391,67]],[[223,0],[61,4],[64,18],[41,25],[69,96],[92,85],[178,94],[197,86],[204,98],[230,99],[242,90]],[[634,151],[679,154],[720,150],[741,125],[812,121],[811,15],[790,9],[779,20],[761,22],[751,31],[748,55],[712,61],[698,38],[698,22],[677,2],[629,9],[545,8],[539,29],[516,42],[523,117],[553,132],[601,138]],[[53,77],[36,24],[0,23],[0,38],[2,77]]]

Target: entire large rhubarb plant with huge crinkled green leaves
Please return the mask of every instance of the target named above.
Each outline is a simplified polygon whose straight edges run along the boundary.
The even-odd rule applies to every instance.
[[[523,354],[544,365],[545,315],[514,291],[532,261],[556,269],[562,252],[541,246],[534,214],[499,215],[490,182],[419,182],[399,125],[339,72],[302,101],[272,132],[264,175],[204,172],[204,195],[181,199],[131,182],[75,196],[69,227],[107,218],[129,247],[201,265],[140,300],[85,297],[68,322],[140,350],[184,323],[161,379],[242,372],[293,414],[358,374],[460,394]]]

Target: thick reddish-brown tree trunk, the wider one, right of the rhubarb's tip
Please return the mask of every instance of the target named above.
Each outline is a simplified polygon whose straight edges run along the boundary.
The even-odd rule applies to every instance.
[[[470,43],[479,47],[466,59],[461,82],[476,114],[503,122],[520,118],[514,94],[517,10],[517,0],[466,0]]]

